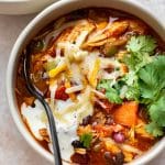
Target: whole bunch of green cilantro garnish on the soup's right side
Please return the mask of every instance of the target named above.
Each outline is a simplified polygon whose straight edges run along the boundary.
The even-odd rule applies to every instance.
[[[165,132],[165,54],[154,55],[156,46],[152,36],[132,36],[123,58],[129,73],[113,85],[111,80],[101,80],[98,89],[103,88],[111,102],[122,103],[122,99],[127,98],[144,105],[151,120],[146,131],[161,136]],[[123,87],[128,89],[121,98]]]

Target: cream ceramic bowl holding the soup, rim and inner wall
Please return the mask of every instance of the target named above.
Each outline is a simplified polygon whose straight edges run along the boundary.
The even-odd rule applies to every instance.
[[[151,25],[162,38],[165,38],[165,29],[162,22],[155,19],[155,16],[141,7],[139,3],[124,1],[124,0],[63,0],[58,1],[43,12],[41,12],[30,24],[23,30],[19,38],[16,40],[11,56],[8,64],[7,72],[7,96],[9,100],[10,110],[15,124],[28,143],[37,151],[42,156],[44,156],[50,162],[53,162],[53,155],[43,148],[30,134],[26,127],[24,125],[15,101],[14,86],[15,86],[15,70],[18,65],[19,55],[30,40],[47,23],[55,20],[62,14],[68,13],[73,10],[86,7],[110,7],[119,10],[127,11],[134,15],[138,15],[144,20],[148,25]],[[152,147],[147,153],[145,153],[140,158],[133,161],[133,165],[144,165],[146,162],[155,157],[165,146],[165,138],[163,138],[155,146]]]

